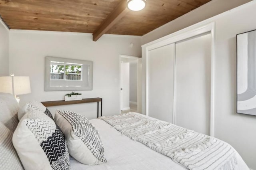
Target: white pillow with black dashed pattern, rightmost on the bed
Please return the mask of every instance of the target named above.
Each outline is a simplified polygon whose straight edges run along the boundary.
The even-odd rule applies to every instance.
[[[55,122],[64,132],[73,158],[88,165],[107,162],[100,135],[88,119],[75,112],[57,110]]]

